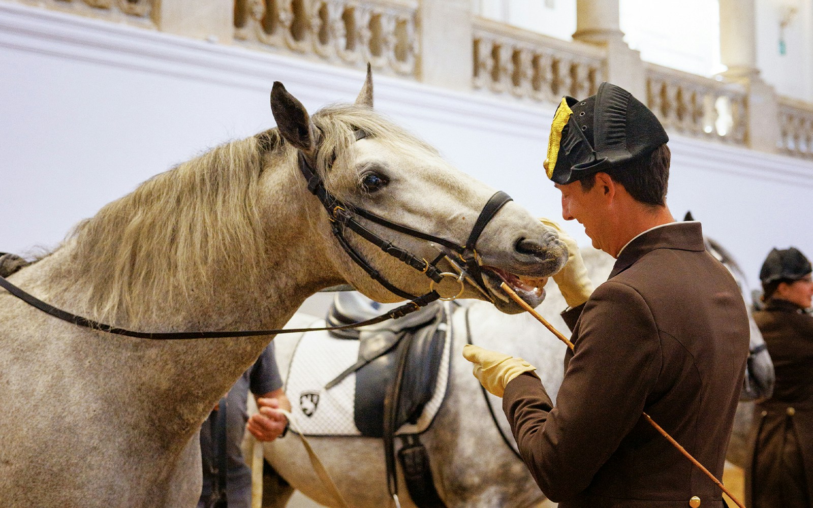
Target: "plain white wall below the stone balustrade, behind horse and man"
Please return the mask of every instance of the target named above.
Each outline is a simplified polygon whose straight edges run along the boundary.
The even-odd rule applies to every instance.
[[[280,80],[315,108],[352,101],[359,72],[0,3],[0,251],[53,247],[141,181],[273,125]],[[559,217],[541,169],[554,105],[376,77],[376,108],[463,171]],[[813,164],[673,137],[669,204],[690,209],[752,285],[772,246],[813,257]],[[579,224],[564,224],[580,243]]]

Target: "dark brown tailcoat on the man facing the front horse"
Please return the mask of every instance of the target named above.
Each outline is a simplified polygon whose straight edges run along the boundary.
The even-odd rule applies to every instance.
[[[533,374],[502,399],[542,492],[559,508],[685,508],[692,496],[723,506],[720,488],[641,417],[721,477],[749,328],[700,224],[635,238],[583,309],[565,313],[568,324],[576,315],[556,406]]]

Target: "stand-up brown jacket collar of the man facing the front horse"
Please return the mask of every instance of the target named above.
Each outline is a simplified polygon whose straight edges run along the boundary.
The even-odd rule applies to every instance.
[[[610,279],[626,270],[644,255],[658,249],[706,250],[699,222],[674,222],[642,232],[621,250],[610,272]]]

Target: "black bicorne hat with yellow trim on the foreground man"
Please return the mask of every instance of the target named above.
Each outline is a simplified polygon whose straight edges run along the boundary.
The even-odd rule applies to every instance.
[[[667,141],[652,111],[627,90],[605,82],[583,101],[562,99],[550,127],[545,169],[550,180],[570,184],[651,154]]]

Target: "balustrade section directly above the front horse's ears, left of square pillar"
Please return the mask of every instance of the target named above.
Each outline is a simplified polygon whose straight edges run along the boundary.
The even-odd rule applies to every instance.
[[[418,0],[235,0],[234,38],[249,46],[415,76]]]

